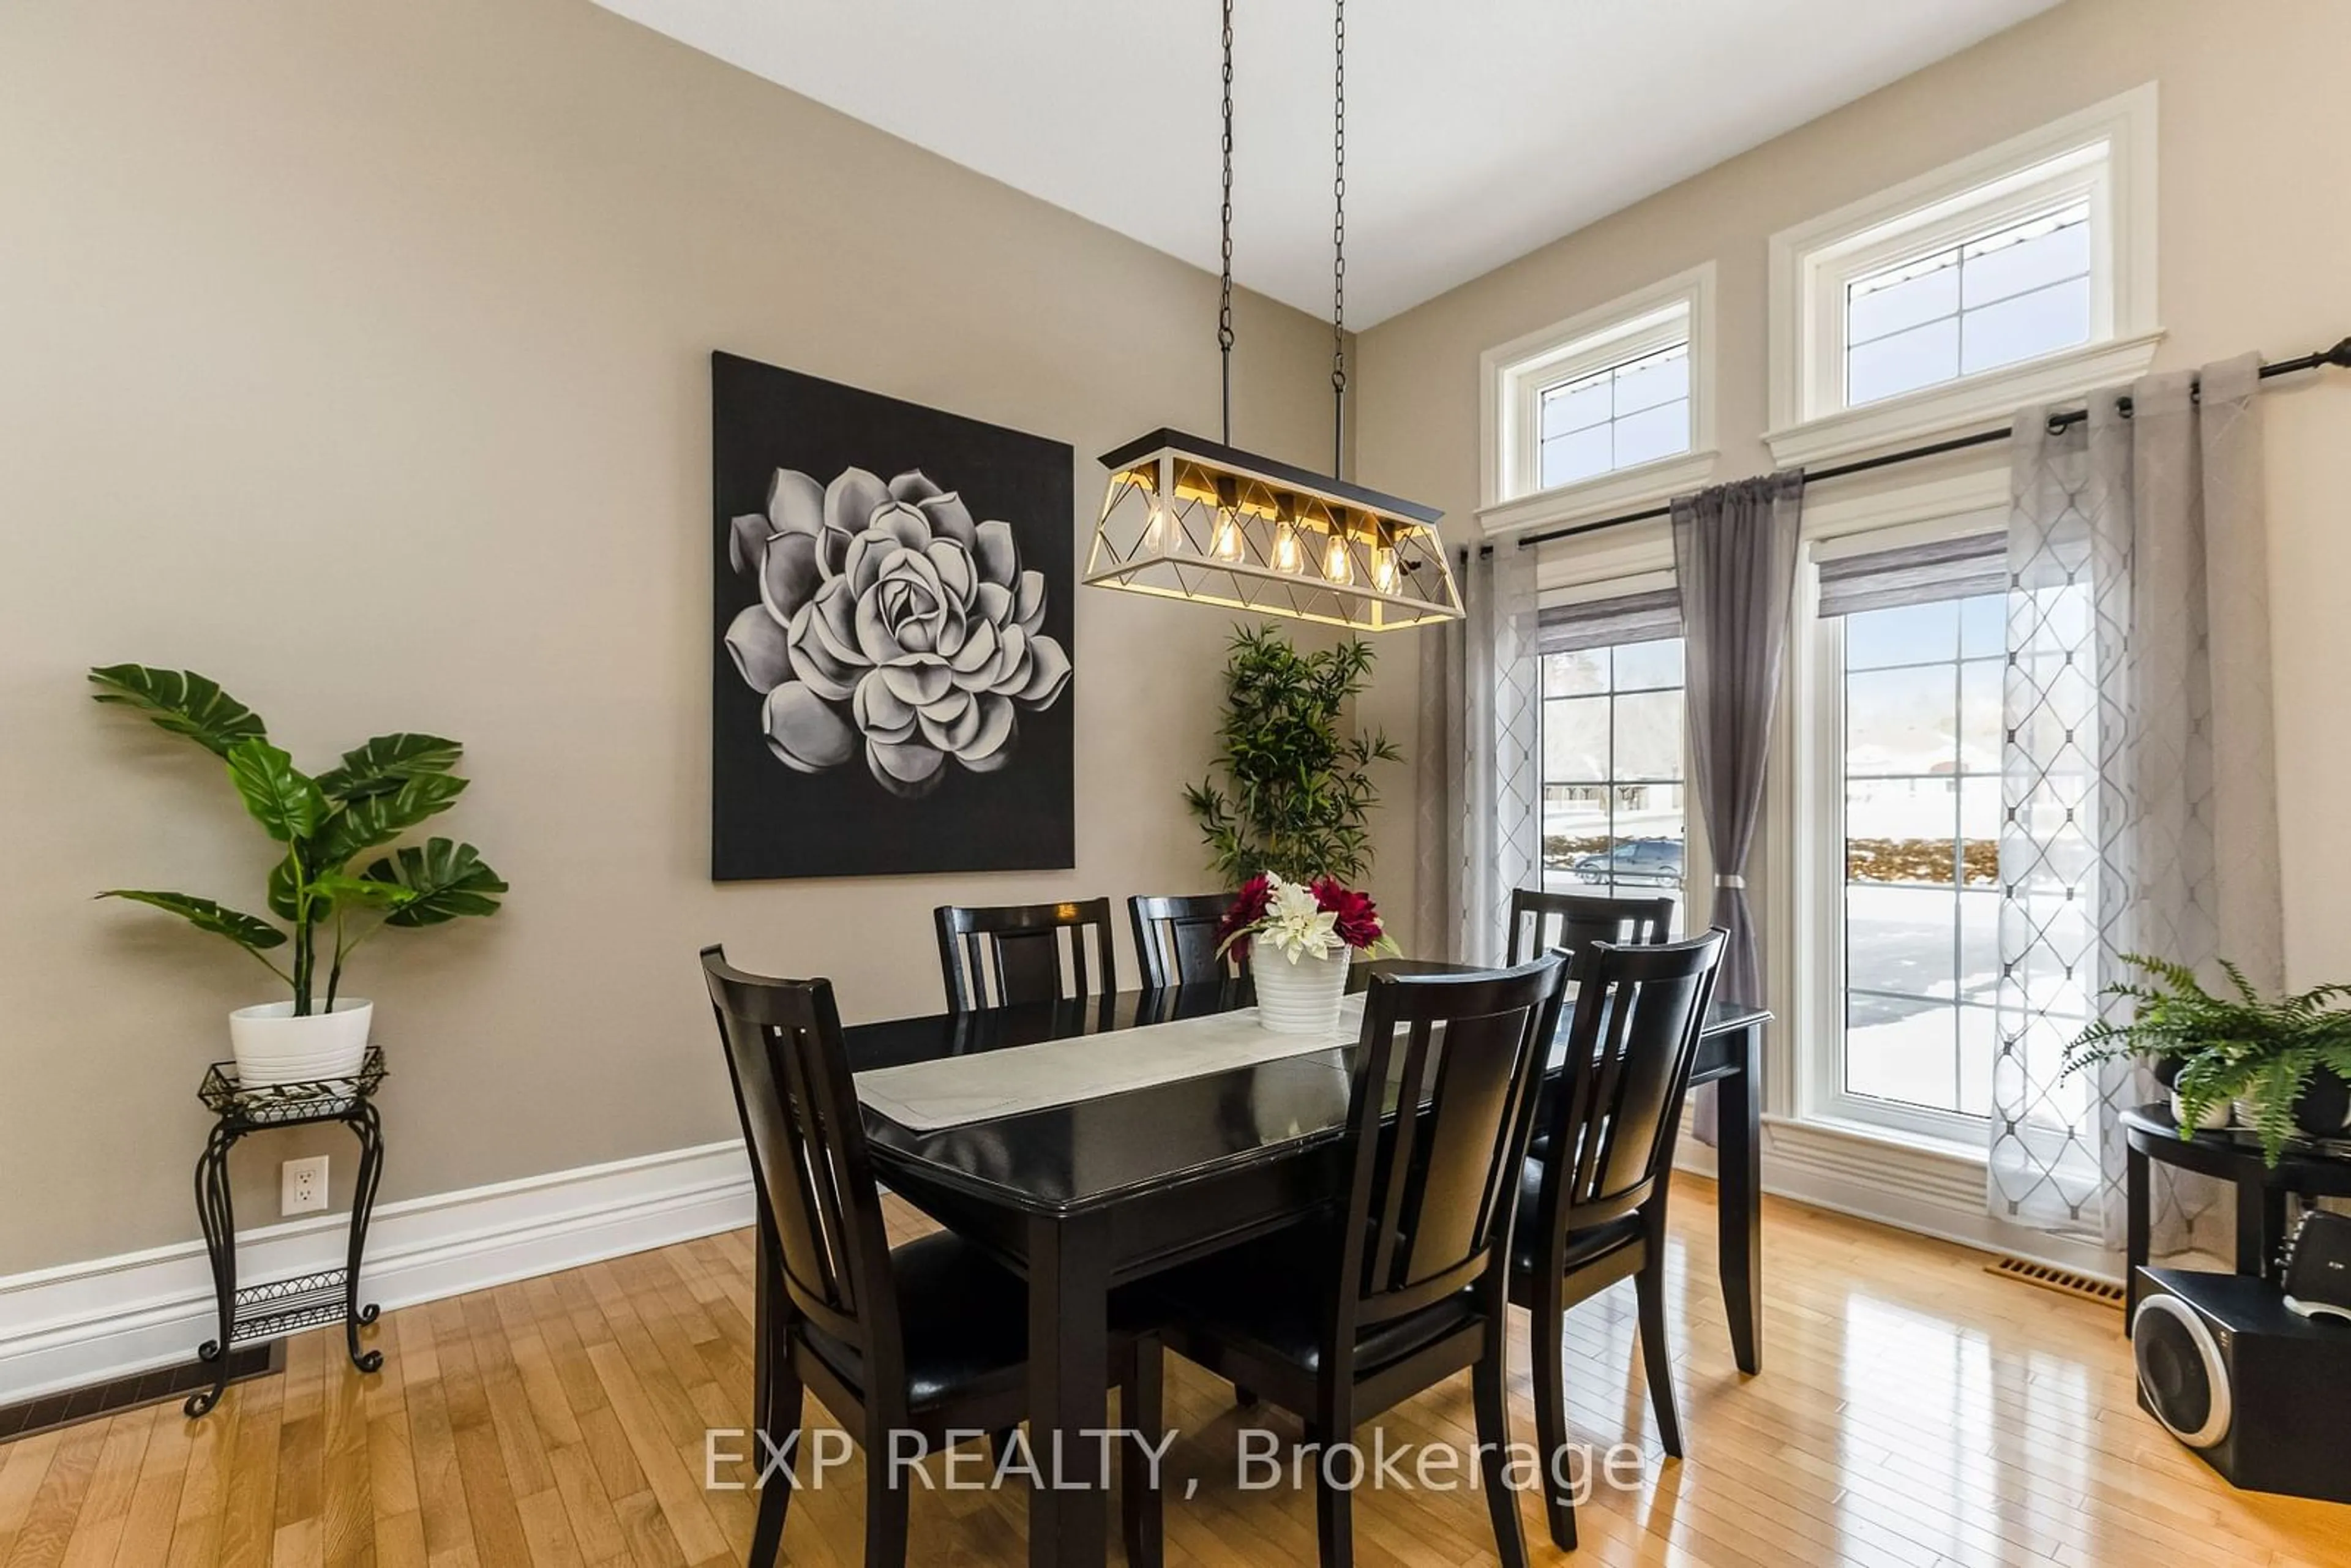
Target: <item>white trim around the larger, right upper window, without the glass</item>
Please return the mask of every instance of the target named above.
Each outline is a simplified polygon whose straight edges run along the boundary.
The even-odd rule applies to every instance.
[[[1843,407],[1843,284],[1963,233],[2090,200],[2092,339],[2081,348]],[[2024,404],[2132,381],[2163,339],[2156,310],[2156,85],[2146,82],[1975,158],[1770,240],[1770,444],[1784,465],[1864,456],[1984,428]]]

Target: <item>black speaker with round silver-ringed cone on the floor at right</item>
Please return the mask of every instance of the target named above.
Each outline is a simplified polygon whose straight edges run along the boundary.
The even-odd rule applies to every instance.
[[[2139,1269],[2139,1406],[2231,1486],[2351,1502],[2351,1324],[2245,1274]]]

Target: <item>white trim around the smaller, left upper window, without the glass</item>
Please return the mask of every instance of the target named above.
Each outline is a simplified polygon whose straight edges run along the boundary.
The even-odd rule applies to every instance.
[[[1690,449],[1535,489],[1540,388],[1690,341]],[[1676,273],[1479,355],[1479,527],[1488,538],[1665,501],[1714,477],[1714,263]]]

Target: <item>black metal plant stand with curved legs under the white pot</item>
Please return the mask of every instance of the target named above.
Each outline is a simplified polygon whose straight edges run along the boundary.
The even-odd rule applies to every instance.
[[[350,1363],[362,1373],[383,1366],[381,1349],[360,1349],[360,1328],[376,1321],[376,1307],[360,1305],[360,1253],[367,1246],[367,1218],[376,1208],[376,1185],[383,1180],[383,1121],[376,1114],[376,1086],[383,1081],[383,1051],[367,1048],[360,1072],[348,1079],[303,1084],[268,1084],[245,1088],[235,1063],[214,1063],[205,1072],[197,1098],[219,1121],[195,1161],[195,1215],[205,1225],[205,1251],[212,1255],[212,1291],[219,1300],[219,1338],[197,1347],[197,1359],[212,1363],[214,1382],[188,1396],[190,1418],[207,1415],[228,1389],[228,1352],[252,1340],[275,1340],[296,1328],[315,1328],[343,1319]],[[228,1197],[228,1152],[247,1133],[280,1126],[341,1121],[360,1140],[360,1185],[350,1199],[350,1253],[341,1269],[301,1274],[266,1286],[237,1288],[237,1218]]]

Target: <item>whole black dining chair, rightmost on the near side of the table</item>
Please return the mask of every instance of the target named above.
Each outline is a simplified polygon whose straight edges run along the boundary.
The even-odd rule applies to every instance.
[[[1568,1441],[1566,1312],[1627,1276],[1641,1307],[1657,1441],[1681,1458],[1665,1340],[1665,1201],[1721,957],[1723,931],[1714,929],[1653,947],[1594,943],[1568,971],[1575,1013],[1566,1063],[1545,1110],[1545,1152],[1521,1175],[1509,1265],[1509,1300],[1531,1314],[1542,1500],[1561,1549],[1575,1547],[1575,1500],[1563,1469],[1554,1469]]]

